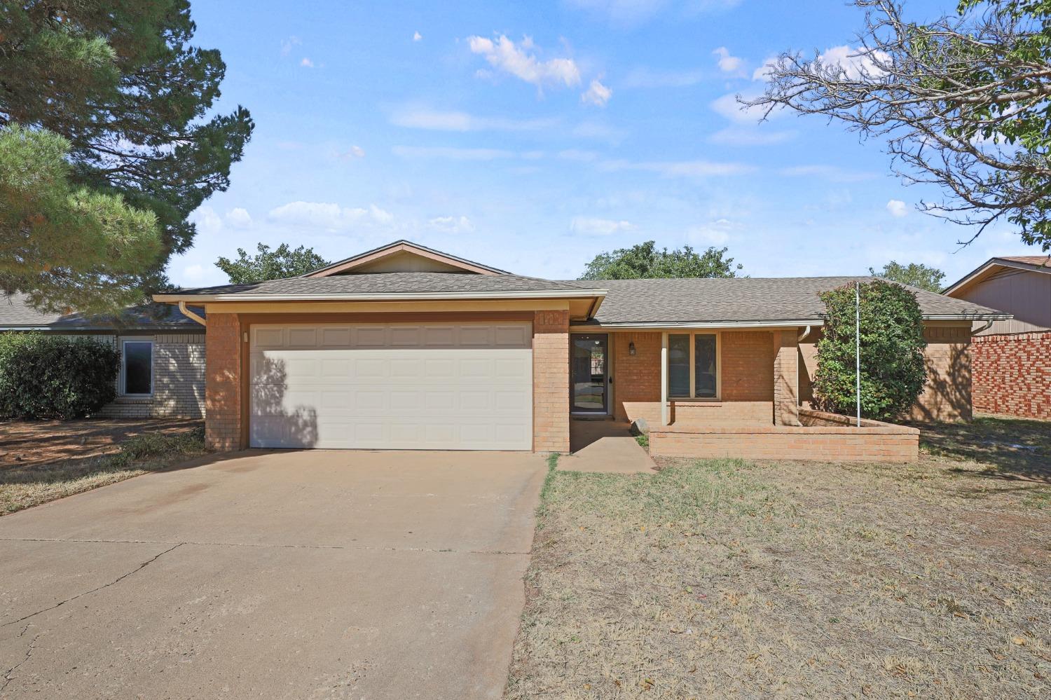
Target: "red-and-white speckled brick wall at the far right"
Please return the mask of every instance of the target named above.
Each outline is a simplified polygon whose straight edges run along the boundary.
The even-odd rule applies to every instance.
[[[1051,419],[1051,331],[971,342],[974,410]]]

